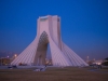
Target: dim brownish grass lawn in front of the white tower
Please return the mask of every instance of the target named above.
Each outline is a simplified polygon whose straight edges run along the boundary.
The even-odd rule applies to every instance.
[[[91,68],[48,67],[45,71],[31,69],[0,69],[0,81],[108,81],[108,69],[89,71]]]

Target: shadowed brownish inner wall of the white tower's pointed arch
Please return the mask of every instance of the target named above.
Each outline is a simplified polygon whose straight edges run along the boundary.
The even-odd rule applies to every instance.
[[[40,36],[37,53],[35,56],[35,65],[41,66],[45,65],[46,51],[48,51],[49,39],[45,31]]]

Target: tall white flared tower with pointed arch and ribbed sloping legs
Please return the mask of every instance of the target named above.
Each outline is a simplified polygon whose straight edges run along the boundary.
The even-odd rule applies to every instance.
[[[11,63],[11,65],[44,65],[48,44],[50,44],[53,66],[87,66],[60,37],[60,18],[55,16],[42,16],[38,18],[37,37],[35,40]]]

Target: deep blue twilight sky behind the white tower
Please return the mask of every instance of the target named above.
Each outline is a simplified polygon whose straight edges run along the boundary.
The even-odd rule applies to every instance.
[[[63,41],[83,59],[108,57],[108,0],[0,0],[0,57],[29,45],[44,15],[60,16]]]

